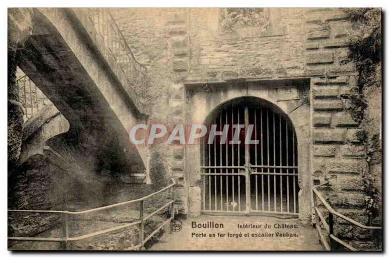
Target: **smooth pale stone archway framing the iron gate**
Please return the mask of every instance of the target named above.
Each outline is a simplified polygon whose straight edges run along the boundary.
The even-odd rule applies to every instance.
[[[284,87],[283,82],[279,81],[274,84],[264,85],[247,84],[246,87],[239,87],[238,85],[224,85],[224,87],[211,87],[208,91],[192,91],[187,88],[187,124],[207,122],[207,118],[212,116],[214,111],[217,111],[226,103],[234,99],[242,97],[250,97],[268,107],[272,107],[278,113],[282,113],[288,121],[294,126],[297,139],[297,166],[299,171],[299,187],[298,194],[298,216],[301,222],[308,224],[311,219],[311,176],[310,176],[310,107],[309,100],[301,101],[304,96],[297,96],[294,99],[280,100],[280,86]],[[280,86],[279,86],[280,85]],[[307,84],[304,85],[304,87]],[[309,84],[308,84],[309,85]],[[287,86],[288,87],[288,86]],[[289,86],[296,88],[300,92],[299,86]],[[305,89],[306,92],[306,89]],[[200,185],[202,183],[200,177],[201,164],[201,149],[200,145],[186,146],[186,162],[185,162],[185,181],[188,187],[188,203],[189,215],[194,210],[201,209],[199,202],[192,201],[199,200],[201,197],[195,196],[200,194]],[[194,191],[193,189],[197,189]],[[200,195],[201,196],[201,195]],[[197,206],[197,207],[191,207]]]

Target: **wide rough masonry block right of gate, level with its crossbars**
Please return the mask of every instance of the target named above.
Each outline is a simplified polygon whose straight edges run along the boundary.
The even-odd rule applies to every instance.
[[[366,163],[363,159],[329,158],[325,168],[330,174],[361,175],[366,169]]]

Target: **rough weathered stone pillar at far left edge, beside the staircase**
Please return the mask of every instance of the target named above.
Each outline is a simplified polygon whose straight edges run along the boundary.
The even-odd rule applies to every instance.
[[[24,43],[32,32],[32,9],[8,9],[8,172],[18,164],[23,129],[23,111],[19,102],[16,67]]]

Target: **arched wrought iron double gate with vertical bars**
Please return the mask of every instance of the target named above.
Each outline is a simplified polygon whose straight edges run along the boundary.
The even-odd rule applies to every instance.
[[[285,115],[264,106],[230,105],[212,120],[216,131],[229,128],[224,138],[208,133],[202,142],[202,210],[297,214],[297,141]],[[246,134],[258,144],[246,144]],[[231,142],[234,136],[240,144]]]

